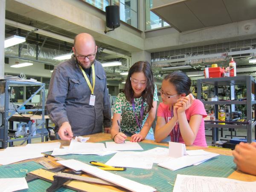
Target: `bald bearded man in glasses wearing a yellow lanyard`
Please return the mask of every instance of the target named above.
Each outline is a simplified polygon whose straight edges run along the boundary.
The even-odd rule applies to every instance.
[[[55,123],[55,137],[110,132],[111,108],[102,64],[95,60],[97,46],[87,33],[76,35],[72,57],[52,73],[46,107]]]

